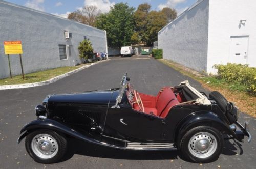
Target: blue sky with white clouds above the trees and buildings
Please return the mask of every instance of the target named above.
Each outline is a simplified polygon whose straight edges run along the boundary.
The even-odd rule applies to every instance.
[[[36,10],[44,11],[61,17],[68,17],[70,12],[74,12],[84,5],[95,5],[101,12],[108,12],[110,7],[116,3],[127,2],[129,6],[137,8],[139,4],[148,3],[151,10],[161,10],[164,7],[175,8],[177,13],[182,13],[186,8],[194,4],[197,0],[5,0],[14,4],[26,6]]]

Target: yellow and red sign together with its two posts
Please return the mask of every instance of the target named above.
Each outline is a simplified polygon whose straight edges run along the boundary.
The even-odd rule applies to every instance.
[[[11,64],[9,54],[19,54],[20,66],[22,67],[22,77],[24,79],[23,65],[22,65],[22,41],[4,41],[5,54],[8,55],[10,75],[12,79],[11,73]]]

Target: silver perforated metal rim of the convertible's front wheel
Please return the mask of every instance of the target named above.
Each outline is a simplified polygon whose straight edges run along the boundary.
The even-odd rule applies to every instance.
[[[32,139],[31,148],[38,157],[48,159],[57,154],[58,143],[49,134],[38,134]]]

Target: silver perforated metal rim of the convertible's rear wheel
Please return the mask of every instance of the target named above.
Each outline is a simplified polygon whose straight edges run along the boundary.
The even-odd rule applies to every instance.
[[[207,158],[215,153],[217,141],[214,135],[208,132],[197,133],[188,143],[189,152],[198,158]]]

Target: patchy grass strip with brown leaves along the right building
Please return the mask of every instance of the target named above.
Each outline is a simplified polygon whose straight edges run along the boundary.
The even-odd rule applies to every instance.
[[[240,83],[227,83],[225,80],[214,76],[205,76],[178,63],[160,59],[158,60],[183,75],[193,78],[209,91],[219,91],[226,99],[239,107],[239,110],[256,117],[256,97],[245,92],[246,87]]]

